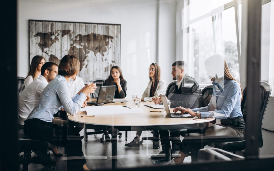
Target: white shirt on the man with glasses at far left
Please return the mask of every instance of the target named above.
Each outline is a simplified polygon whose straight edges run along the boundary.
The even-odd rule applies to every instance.
[[[31,77],[32,76],[28,76]],[[40,75],[32,83],[30,83],[20,95],[18,99],[18,114],[19,124],[24,125],[24,121],[27,119],[30,112],[38,104],[41,92],[48,85],[44,76]]]

